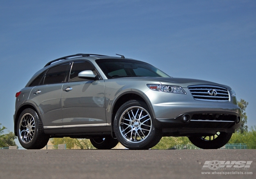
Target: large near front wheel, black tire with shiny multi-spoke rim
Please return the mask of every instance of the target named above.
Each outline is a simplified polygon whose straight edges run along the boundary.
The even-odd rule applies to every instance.
[[[127,101],[117,110],[114,132],[119,142],[132,150],[150,149],[162,138],[161,130],[154,128],[148,106],[139,100]]]

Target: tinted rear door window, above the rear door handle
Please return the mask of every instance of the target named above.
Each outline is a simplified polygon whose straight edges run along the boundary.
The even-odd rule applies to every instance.
[[[49,69],[44,78],[44,84],[63,83],[69,71],[69,63],[54,66]]]

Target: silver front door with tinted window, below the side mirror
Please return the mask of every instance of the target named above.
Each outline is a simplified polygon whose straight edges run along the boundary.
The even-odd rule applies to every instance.
[[[61,93],[63,128],[106,126],[104,80],[78,77],[78,73],[92,70],[88,61],[74,61],[68,83]]]

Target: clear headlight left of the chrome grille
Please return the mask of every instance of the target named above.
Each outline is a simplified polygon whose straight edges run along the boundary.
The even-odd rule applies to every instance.
[[[179,94],[186,94],[184,89],[180,86],[170,86],[170,85],[147,85],[148,88],[154,91],[162,91],[162,92],[169,92],[169,93],[179,93]]]

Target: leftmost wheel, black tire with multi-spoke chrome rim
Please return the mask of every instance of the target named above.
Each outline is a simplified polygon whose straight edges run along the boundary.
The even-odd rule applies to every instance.
[[[49,136],[44,134],[37,112],[31,108],[25,109],[20,114],[17,135],[19,143],[25,149],[42,149],[49,141]]]

